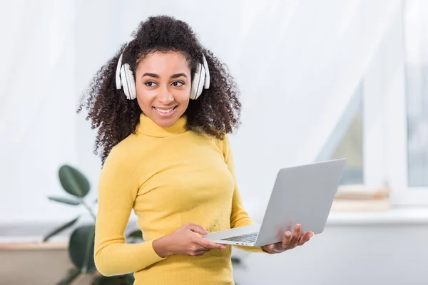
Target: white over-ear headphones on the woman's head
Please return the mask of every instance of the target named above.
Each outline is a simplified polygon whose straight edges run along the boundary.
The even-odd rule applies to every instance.
[[[123,53],[119,57],[118,66],[116,68],[116,89],[119,90],[123,87],[123,92],[125,93],[126,98],[128,98],[128,100],[133,100],[137,96],[136,81],[129,64],[122,64],[122,56]],[[210,88],[210,70],[208,69],[208,63],[205,56],[203,56],[203,64],[198,63],[198,66],[196,67],[195,77],[193,78],[192,89],[190,91],[190,99],[198,99],[203,88]]]

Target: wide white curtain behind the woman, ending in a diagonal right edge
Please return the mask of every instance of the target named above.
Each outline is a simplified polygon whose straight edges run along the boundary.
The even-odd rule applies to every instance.
[[[400,1],[13,3],[3,10],[9,57],[0,78],[1,187],[12,194],[0,202],[0,222],[30,219],[16,205],[3,205],[22,195],[34,199],[26,204],[27,212],[39,211],[34,219],[63,219],[67,213],[49,217],[47,210],[58,208],[45,199],[59,192],[62,163],[75,163],[96,187],[94,134],[74,113],[77,99],[138,23],[156,14],[187,21],[238,81],[243,125],[232,143],[251,212],[252,203],[267,199],[278,167],[315,160]]]

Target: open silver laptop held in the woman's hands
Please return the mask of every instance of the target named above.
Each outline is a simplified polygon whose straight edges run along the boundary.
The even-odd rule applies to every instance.
[[[261,247],[282,241],[295,224],[302,232],[320,234],[340,184],[345,159],[279,170],[262,224],[211,232],[203,238],[218,244]]]

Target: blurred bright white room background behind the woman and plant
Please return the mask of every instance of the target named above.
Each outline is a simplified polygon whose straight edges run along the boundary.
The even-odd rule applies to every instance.
[[[325,232],[285,254],[234,251],[237,284],[428,284],[426,0],[1,0],[0,284],[85,271],[68,246],[93,221],[101,160],[76,109],[98,68],[158,14],[188,22],[238,83],[231,143],[256,222],[278,168],[347,158]],[[64,191],[63,165],[88,180],[84,199]]]

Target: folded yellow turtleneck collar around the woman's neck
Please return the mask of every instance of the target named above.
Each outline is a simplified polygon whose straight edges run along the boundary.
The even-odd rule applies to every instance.
[[[187,125],[187,118],[185,115],[178,118],[178,120],[171,125],[170,127],[163,128],[160,125],[156,124],[148,118],[146,115],[141,113],[140,115],[140,123],[137,125],[137,130],[144,135],[149,135],[151,137],[157,138],[165,138],[173,135],[178,135],[180,133],[184,133]]]

